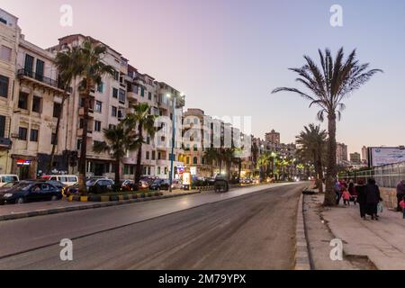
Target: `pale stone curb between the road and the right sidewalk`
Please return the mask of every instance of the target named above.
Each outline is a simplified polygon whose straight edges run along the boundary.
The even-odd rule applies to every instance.
[[[311,270],[310,251],[303,217],[303,194],[301,194],[300,201],[298,202],[294,261],[294,270]]]

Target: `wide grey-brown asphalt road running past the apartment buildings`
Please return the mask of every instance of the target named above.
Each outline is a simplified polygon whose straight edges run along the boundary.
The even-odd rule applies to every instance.
[[[291,269],[302,188],[281,185],[236,198],[229,198],[234,192],[197,194],[5,221],[0,269]],[[59,258],[62,247],[55,243],[62,238],[73,240],[73,261]]]

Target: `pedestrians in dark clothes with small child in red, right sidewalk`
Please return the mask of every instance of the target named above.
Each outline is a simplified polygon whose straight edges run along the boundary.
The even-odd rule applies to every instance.
[[[405,193],[405,181],[404,181]],[[345,180],[337,181],[335,184],[335,193],[337,205],[343,198],[345,205],[349,206],[350,202],[359,204],[360,216],[366,220],[366,216],[371,216],[372,220],[378,220],[378,212],[382,211],[383,199],[381,198],[380,188],[373,178],[368,179],[367,184],[359,180],[357,185],[350,180],[349,184]],[[404,202],[405,203],[405,202]]]

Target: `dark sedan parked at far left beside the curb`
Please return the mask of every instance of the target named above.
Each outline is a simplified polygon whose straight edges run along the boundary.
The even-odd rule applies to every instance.
[[[60,199],[62,199],[60,189],[46,182],[22,182],[0,194],[0,202],[7,204]]]

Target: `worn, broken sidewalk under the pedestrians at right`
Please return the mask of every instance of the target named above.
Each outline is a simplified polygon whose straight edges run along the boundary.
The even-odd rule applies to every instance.
[[[402,219],[402,213],[384,209],[380,214],[380,220],[370,220],[370,218],[362,220],[358,205],[351,203],[350,207],[340,205],[332,209],[323,208],[320,206],[323,198],[323,195],[305,196],[304,207],[306,208],[304,209],[307,211],[304,215],[306,215],[310,236],[310,247],[320,244],[311,243],[311,234],[313,235],[311,230],[316,228],[315,225],[326,227],[333,238],[343,240],[345,259],[344,261],[328,260],[332,247],[329,247],[329,241],[325,240],[324,255],[321,256],[323,261],[319,261],[324,265],[320,268],[356,269],[356,261],[362,257],[368,257],[377,269],[405,270],[405,220]],[[318,220],[313,219],[316,210],[320,216]],[[321,220],[324,220],[324,223]],[[311,251],[314,258],[320,257],[318,253],[320,250],[317,252],[311,249]],[[360,269],[364,268],[366,267],[360,266]]]

